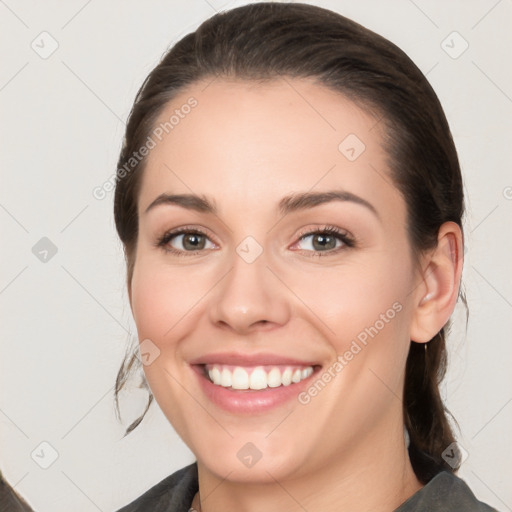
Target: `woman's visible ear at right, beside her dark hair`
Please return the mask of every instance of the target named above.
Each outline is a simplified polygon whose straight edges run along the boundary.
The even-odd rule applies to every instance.
[[[464,263],[462,231],[445,222],[438,232],[437,247],[421,263],[421,283],[414,291],[411,341],[429,342],[448,322],[459,296]]]

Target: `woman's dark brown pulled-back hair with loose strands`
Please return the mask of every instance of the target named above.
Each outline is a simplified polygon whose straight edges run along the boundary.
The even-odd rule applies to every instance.
[[[118,161],[114,200],[128,286],[135,264],[137,199],[145,160],[129,173],[119,171],[144,144],[162,109],[198,80],[270,80],[281,75],[313,78],[380,118],[391,178],[407,205],[408,232],[416,255],[436,246],[444,222],[453,221],[462,228],[457,152],[439,100],[411,59],[387,39],[330,10],[302,3],[255,3],[218,13],[183,37],[137,93]],[[128,356],[117,376],[117,407],[118,392],[130,371],[140,366],[135,355]],[[426,351],[423,344],[411,343],[404,423],[411,463],[424,483],[442,470],[457,469],[442,457],[454,441],[439,393],[445,369],[445,329]],[[146,411],[152,398],[150,393]]]

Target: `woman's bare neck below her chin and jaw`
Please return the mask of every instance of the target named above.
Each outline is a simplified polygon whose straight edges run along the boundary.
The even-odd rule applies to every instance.
[[[200,512],[225,510],[349,510],[390,512],[418,491],[404,443],[403,430],[394,435],[361,436],[349,452],[333,456],[307,476],[265,483],[236,482],[211,473],[198,461],[199,494],[194,508]],[[199,502],[200,501],[200,502]]]

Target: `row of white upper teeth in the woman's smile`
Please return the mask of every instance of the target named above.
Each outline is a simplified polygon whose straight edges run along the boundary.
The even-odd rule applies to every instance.
[[[267,371],[262,366],[249,369],[241,366],[208,365],[208,376],[213,384],[232,389],[266,389],[289,386],[307,379],[313,373],[313,367],[273,367]]]

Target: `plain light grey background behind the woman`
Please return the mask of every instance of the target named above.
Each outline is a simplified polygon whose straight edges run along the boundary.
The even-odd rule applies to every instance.
[[[135,330],[112,193],[92,190],[115,172],[135,93],[166,48],[243,3],[0,0],[0,467],[38,512],[116,510],[193,460],[156,404],[122,439],[113,384]],[[466,334],[458,307],[443,394],[468,453],[460,476],[512,510],[512,2],[310,3],[398,44],[444,105],[468,196],[470,321]],[[51,49],[43,31],[59,45],[46,59],[31,47]],[[469,44],[458,58],[453,31]],[[32,252],[42,237],[58,249],[46,262]],[[140,398],[127,397],[127,421]],[[48,469],[43,441],[58,452]]]

